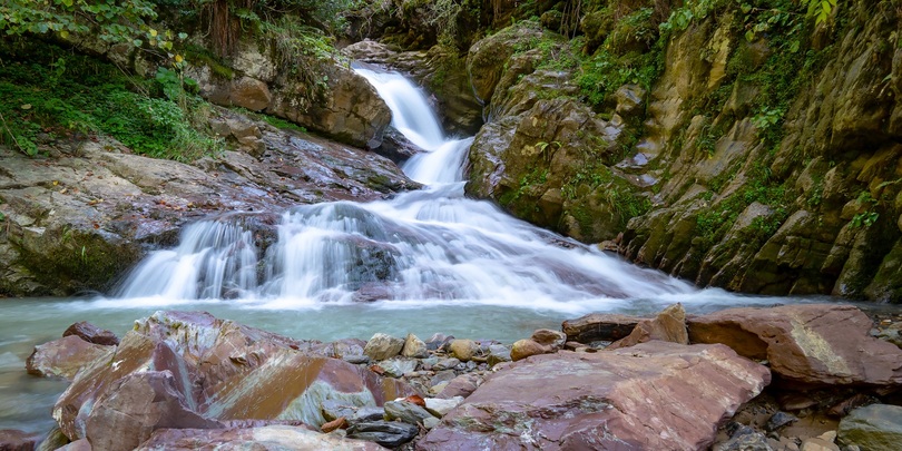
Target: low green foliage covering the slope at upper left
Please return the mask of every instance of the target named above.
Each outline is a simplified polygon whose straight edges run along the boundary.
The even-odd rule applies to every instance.
[[[0,41],[0,59],[6,61],[0,66],[0,141],[28,155],[40,145],[100,133],[136,153],[178,160],[222,147],[192,127],[193,116],[203,112],[200,102],[176,90],[167,69],[156,80],[143,80],[90,57],[9,40]],[[148,97],[154,91],[164,97]]]

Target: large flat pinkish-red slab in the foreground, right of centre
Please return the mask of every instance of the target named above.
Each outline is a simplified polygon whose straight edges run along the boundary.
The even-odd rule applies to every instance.
[[[444,449],[704,449],[769,382],[719,345],[535,355],[486,381],[419,443]]]

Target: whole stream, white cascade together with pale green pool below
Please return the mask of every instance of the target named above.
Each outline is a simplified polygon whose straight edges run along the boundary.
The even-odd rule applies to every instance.
[[[46,432],[66,383],[24,373],[36,344],[78,321],[121,335],[156,310],[203,310],[296,339],[435,332],[504,343],[589,312],[689,313],[806,302],[698,290],[514,219],[463,195],[472,138],[447,137],[423,92],[398,73],[357,69],[427,150],[403,167],[427,188],[367,204],[285,212],[256,248],[246,215],[198,222],[150,253],[108,296],[0,301],[0,429]]]

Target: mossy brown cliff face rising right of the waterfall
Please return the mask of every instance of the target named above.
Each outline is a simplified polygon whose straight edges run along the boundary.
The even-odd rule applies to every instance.
[[[477,42],[468,69],[489,121],[468,193],[582,241],[622,232],[627,258],[699,285],[901,301],[900,11],[843,3],[815,26],[696,3],[716,2],[687,2],[657,48],[639,46],[658,52],[649,89],[601,101],[586,55],[566,57],[591,39],[528,22]],[[604,27],[610,49],[622,27]]]

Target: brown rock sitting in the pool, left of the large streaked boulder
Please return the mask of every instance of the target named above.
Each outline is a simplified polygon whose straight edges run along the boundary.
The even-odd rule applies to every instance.
[[[38,346],[26,361],[29,374],[75,379],[81,369],[97,360],[110,357],[115,349],[88,343],[78,335],[67,335]]]

